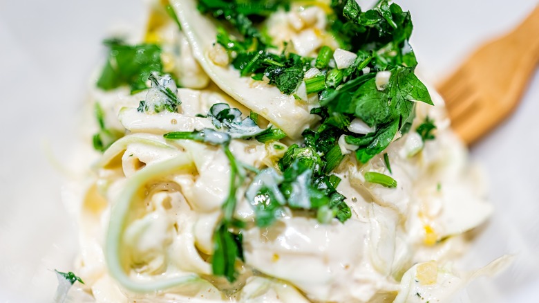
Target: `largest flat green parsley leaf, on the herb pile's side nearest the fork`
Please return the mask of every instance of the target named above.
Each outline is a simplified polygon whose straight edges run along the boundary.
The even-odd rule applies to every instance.
[[[432,104],[426,86],[414,75],[411,68],[397,66],[390,70],[388,86],[379,91],[375,78],[363,75],[332,91],[321,105],[338,113],[353,114],[369,126],[375,134],[346,136],[346,143],[357,145],[357,160],[366,163],[382,152],[413,116],[414,103]],[[355,90],[354,90],[355,89]]]

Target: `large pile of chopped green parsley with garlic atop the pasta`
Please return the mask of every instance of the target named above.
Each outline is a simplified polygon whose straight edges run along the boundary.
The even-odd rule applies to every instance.
[[[271,1],[261,8],[259,1],[199,1],[199,10],[222,22],[217,42],[229,53],[231,64],[244,77],[264,80],[280,91],[301,99],[297,93],[305,82],[306,93],[317,93],[321,108],[312,113],[322,117],[317,129],[305,131],[305,145],[316,142],[322,154],[326,173],[344,158],[335,138],[345,135],[346,143],[356,145],[359,163],[367,163],[381,153],[400,132],[406,133],[415,117],[415,102],[433,104],[426,86],[414,74],[417,61],[408,39],[413,25],[409,12],[396,3],[379,1],[375,8],[361,10],[354,0],[333,0],[328,15],[328,28],[340,48],[357,55],[347,68],[330,67],[333,50],[322,46],[315,58],[301,57],[287,51],[269,51],[275,46],[258,30],[262,21],[284,1]],[[231,35],[226,27],[234,27],[239,35]],[[304,79],[308,69],[319,68],[319,74]],[[388,84],[380,90],[377,73],[389,71]],[[354,134],[350,121],[358,118],[375,131]],[[429,134],[426,131],[425,134]],[[425,137],[427,138],[427,137]],[[430,137],[429,137],[430,138]],[[430,140],[430,139],[426,139]]]

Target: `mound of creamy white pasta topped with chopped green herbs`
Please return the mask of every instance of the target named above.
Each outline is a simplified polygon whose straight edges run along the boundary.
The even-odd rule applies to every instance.
[[[492,210],[413,74],[409,14],[283,2],[155,2],[140,44],[107,42],[79,218],[87,300],[442,302],[471,278],[449,265]],[[335,18],[395,40],[367,52]]]

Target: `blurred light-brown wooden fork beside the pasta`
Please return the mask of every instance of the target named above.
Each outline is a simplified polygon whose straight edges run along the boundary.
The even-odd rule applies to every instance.
[[[539,6],[509,34],[475,51],[437,87],[468,145],[509,116],[539,62]]]

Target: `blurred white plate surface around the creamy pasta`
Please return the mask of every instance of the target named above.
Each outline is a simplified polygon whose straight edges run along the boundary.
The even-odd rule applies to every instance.
[[[100,42],[119,24],[144,24],[141,1],[0,3],[0,302],[48,302],[52,270],[71,268],[75,222],[60,201],[62,171],[77,139],[86,84],[104,57]],[[473,48],[508,30],[536,0],[407,0],[419,70],[435,82]],[[538,39],[536,37],[530,39]],[[89,84],[88,84],[89,85]],[[516,113],[472,149],[489,177],[495,214],[468,264],[504,253],[509,270],[469,288],[471,302],[539,297],[539,76]]]

